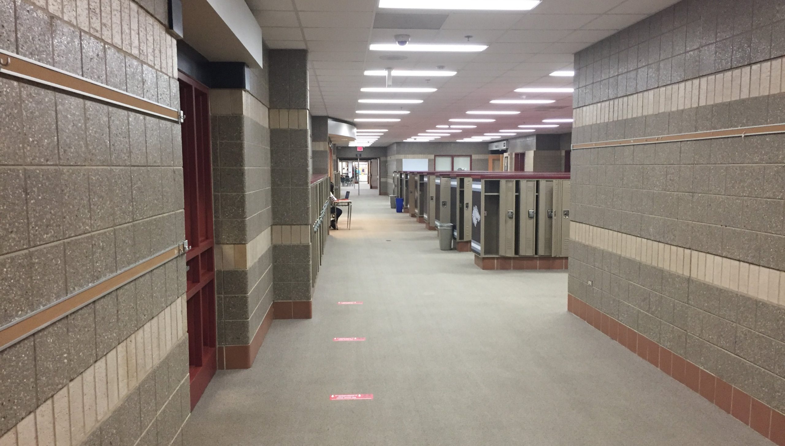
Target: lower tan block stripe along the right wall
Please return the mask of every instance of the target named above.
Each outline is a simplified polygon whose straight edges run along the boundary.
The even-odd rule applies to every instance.
[[[570,238],[583,245],[604,249],[717,287],[785,306],[785,271],[772,270],[585,223],[571,222]]]

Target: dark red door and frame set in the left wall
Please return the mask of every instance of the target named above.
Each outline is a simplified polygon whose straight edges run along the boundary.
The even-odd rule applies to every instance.
[[[180,107],[184,112],[185,238],[191,245],[185,259],[188,270],[188,362],[193,409],[217,368],[213,176],[210,163],[209,90],[182,73]]]

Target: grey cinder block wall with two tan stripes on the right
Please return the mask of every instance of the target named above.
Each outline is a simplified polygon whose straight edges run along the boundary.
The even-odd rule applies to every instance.
[[[785,122],[782,6],[680,2],[577,53],[573,143]],[[785,426],[783,143],[572,153],[569,293],[584,316],[637,332],[633,351],[770,438]]]

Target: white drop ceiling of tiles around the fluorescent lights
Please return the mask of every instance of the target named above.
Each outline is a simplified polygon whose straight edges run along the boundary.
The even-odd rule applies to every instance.
[[[308,49],[311,113],[346,121],[387,118],[358,110],[405,110],[398,122],[357,122],[358,129],[389,129],[374,146],[405,140],[451,118],[495,118],[476,123],[440,141],[481,136],[543,119],[571,118],[571,93],[519,93],[523,87],[571,87],[572,78],[553,71],[572,70],[573,53],[614,34],[675,0],[543,0],[527,12],[380,9],[378,0],[246,0],[271,49]],[[478,0],[479,3],[482,0]],[[407,20],[410,19],[410,20]],[[375,27],[374,27],[375,25]],[[471,42],[488,45],[482,53],[389,53],[368,50],[410,34],[412,43]],[[470,35],[472,38],[466,38]],[[392,57],[391,57],[392,56]],[[403,60],[395,60],[400,56]],[[393,60],[390,60],[393,59]],[[393,77],[395,87],[430,87],[429,93],[360,92],[384,87],[385,78],[366,70],[457,71],[452,77]],[[360,99],[417,99],[414,104],[358,103]],[[491,104],[499,99],[549,99],[548,104]],[[466,111],[520,111],[508,116],[476,116]],[[564,133],[569,123],[537,133]]]

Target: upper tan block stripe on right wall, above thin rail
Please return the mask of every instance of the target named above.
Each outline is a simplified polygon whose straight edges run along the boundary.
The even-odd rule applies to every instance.
[[[785,58],[709,74],[573,111],[573,127],[785,92]]]

